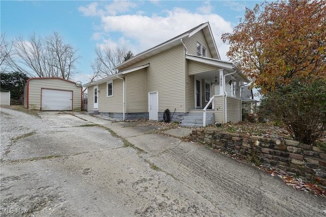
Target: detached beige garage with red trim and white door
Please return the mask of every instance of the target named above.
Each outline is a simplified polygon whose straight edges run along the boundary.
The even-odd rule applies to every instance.
[[[33,77],[24,89],[24,106],[42,111],[81,111],[82,87],[60,77]]]

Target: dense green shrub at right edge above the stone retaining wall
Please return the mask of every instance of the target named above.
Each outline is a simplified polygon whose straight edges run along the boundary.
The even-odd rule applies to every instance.
[[[294,140],[314,144],[325,135],[326,81],[305,84],[292,80],[263,96],[259,115],[283,123]]]

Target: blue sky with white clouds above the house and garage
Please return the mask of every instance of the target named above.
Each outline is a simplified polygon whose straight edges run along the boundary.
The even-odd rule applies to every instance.
[[[1,33],[8,40],[58,32],[82,56],[73,80],[88,82],[94,48],[125,46],[134,55],[209,21],[221,59],[246,7],[261,1],[0,1]]]

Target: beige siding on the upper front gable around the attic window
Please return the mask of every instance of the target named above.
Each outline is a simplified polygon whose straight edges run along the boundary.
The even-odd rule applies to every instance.
[[[212,58],[212,54],[208,48],[208,44],[202,30],[193,36],[184,39],[184,44],[187,48],[188,54],[197,56],[197,42],[206,48],[207,57]]]

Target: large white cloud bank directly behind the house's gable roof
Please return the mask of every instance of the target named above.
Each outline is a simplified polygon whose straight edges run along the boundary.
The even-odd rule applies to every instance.
[[[224,20],[220,15],[210,13],[211,6],[209,2],[203,3],[203,6],[198,8],[196,13],[183,8],[173,8],[172,10],[162,11],[159,15],[151,14],[149,16],[137,12],[117,15],[118,12],[123,13],[128,8],[135,7],[133,4],[125,2],[120,5],[122,8],[119,8],[118,11],[118,4],[118,2],[114,2],[106,6],[105,14],[107,15],[100,15],[102,10],[94,3],[87,6],[89,10],[79,8],[79,11],[82,11],[84,15],[93,16],[97,13],[101,16],[101,28],[93,34],[93,39],[101,40],[97,46],[125,46],[136,55],[209,21],[221,59],[227,60],[226,52],[229,46],[223,44],[221,35],[232,32],[232,24]]]

